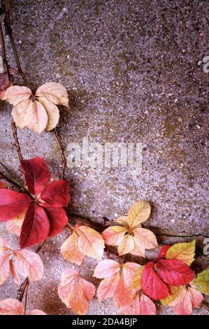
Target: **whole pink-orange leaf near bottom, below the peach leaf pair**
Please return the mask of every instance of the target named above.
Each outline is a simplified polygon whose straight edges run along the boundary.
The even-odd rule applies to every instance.
[[[92,283],[81,279],[74,269],[66,269],[62,272],[58,293],[67,307],[82,315],[87,312],[89,301],[94,297],[95,287]]]

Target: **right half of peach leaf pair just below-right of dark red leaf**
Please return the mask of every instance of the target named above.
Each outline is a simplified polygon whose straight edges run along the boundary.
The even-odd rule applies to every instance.
[[[104,249],[104,242],[101,235],[85,225],[79,226],[76,232],[79,235],[78,247],[80,250],[89,257],[101,260]]]

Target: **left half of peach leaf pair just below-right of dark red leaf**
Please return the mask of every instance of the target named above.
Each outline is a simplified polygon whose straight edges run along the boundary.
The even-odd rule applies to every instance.
[[[84,253],[78,248],[78,235],[73,234],[66,239],[61,246],[61,253],[66,260],[80,265],[85,257]]]

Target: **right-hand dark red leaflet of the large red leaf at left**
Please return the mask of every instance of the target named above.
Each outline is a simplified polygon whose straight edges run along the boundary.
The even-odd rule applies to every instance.
[[[53,181],[41,193],[40,202],[43,207],[67,207],[69,201],[69,183],[67,181]]]

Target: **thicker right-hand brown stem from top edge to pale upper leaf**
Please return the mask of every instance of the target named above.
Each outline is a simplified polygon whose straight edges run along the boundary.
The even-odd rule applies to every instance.
[[[4,20],[4,24],[5,24],[8,36],[10,38],[11,46],[13,48],[13,54],[14,54],[14,57],[15,57],[15,62],[16,62],[16,65],[17,65],[17,69],[18,69],[20,75],[22,76],[22,79],[24,80],[24,83],[27,85],[27,87],[29,87],[32,90],[31,84],[29,83],[29,81],[27,80],[27,77],[25,76],[24,72],[22,71],[22,67],[21,67],[21,64],[20,64],[20,59],[19,59],[19,56],[17,54],[17,48],[16,48],[16,45],[15,45],[15,40],[14,40],[14,37],[13,37],[13,30],[12,30],[11,22],[10,22],[10,1],[5,0],[4,3],[5,3],[5,20]]]

